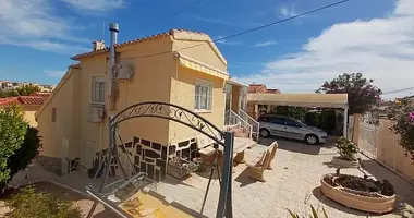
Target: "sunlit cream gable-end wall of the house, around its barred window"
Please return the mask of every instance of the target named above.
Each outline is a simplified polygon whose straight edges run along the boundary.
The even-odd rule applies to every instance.
[[[192,48],[180,50],[181,48],[185,47]],[[179,52],[183,56],[197,60],[211,68],[227,71],[227,64],[216,53],[215,46],[211,46],[207,41],[174,40],[173,49],[179,50]],[[175,64],[178,64],[178,61],[175,61]],[[222,129],[224,126],[224,80],[183,66],[176,66],[176,71],[173,71],[171,74],[171,102],[194,111],[194,85],[196,80],[205,80],[214,83],[211,111],[198,114],[206,118],[216,126]],[[169,143],[185,141],[199,134],[200,133],[185,125],[171,122],[169,131]]]

